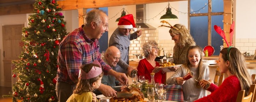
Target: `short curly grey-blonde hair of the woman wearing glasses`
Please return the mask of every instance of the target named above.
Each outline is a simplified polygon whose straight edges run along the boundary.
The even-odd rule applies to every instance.
[[[149,40],[148,42],[143,44],[142,50],[143,50],[145,57],[148,57],[148,55],[150,54],[150,51],[152,50],[152,48],[151,48],[152,46],[158,47],[158,44],[156,43],[155,40]],[[148,49],[149,49],[149,51],[148,51]]]

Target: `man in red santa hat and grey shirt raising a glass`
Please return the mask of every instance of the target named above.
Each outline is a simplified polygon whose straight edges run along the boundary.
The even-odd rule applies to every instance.
[[[131,29],[134,33],[130,34]],[[137,31],[132,14],[125,15],[119,19],[118,28],[109,39],[109,46],[117,47],[121,52],[121,58],[117,63],[116,71],[130,73],[135,68],[129,66],[129,46],[130,40],[141,36],[141,30]]]

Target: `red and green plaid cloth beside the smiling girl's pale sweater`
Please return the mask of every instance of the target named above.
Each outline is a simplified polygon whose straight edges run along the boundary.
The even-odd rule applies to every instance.
[[[183,102],[183,90],[181,85],[163,85],[166,89],[166,100]]]

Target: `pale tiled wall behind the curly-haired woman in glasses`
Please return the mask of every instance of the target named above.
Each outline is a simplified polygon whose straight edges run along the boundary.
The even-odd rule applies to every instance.
[[[143,54],[143,44],[148,40],[155,40],[158,44],[159,51],[163,48],[165,53],[173,53],[174,41],[170,40],[158,40],[158,31],[152,29],[142,30],[142,35],[138,38],[139,41],[136,39],[131,40],[130,51],[129,51],[129,58],[136,58],[135,55],[132,54]]]

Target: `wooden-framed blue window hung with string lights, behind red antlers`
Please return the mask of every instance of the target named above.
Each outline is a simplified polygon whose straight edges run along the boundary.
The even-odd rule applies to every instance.
[[[190,8],[188,28],[196,44],[202,48],[211,45],[215,49],[213,55],[219,55],[223,40],[213,26],[218,25],[223,28],[223,0],[189,0],[188,6]]]

